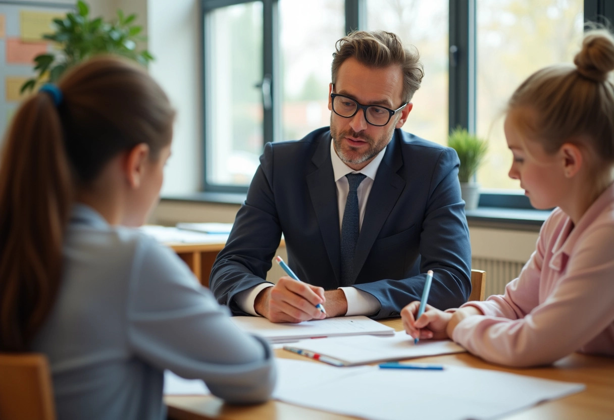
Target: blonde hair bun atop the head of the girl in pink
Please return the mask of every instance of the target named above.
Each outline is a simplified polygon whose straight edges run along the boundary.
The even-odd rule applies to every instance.
[[[573,58],[578,73],[596,82],[605,82],[614,70],[614,37],[606,29],[585,34],[582,49]]]

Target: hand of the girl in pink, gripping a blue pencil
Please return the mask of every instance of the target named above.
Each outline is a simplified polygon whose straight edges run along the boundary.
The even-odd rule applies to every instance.
[[[452,314],[440,311],[427,304],[424,313],[416,321],[419,307],[420,302],[416,300],[402,309],[401,319],[405,332],[420,340],[448,338],[446,327],[448,327]]]

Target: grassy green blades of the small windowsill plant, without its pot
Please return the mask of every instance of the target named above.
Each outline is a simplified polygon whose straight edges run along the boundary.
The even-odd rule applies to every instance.
[[[448,146],[456,150],[461,161],[459,181],[469,182],[486,156],[488,143],[467,129],[457,127],[448,136]]]

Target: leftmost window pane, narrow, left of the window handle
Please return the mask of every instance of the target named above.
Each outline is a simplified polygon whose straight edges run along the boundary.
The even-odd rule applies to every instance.
[[[207,181],[249,185],[263,144],[262,3],[222,7],[209,18]]]

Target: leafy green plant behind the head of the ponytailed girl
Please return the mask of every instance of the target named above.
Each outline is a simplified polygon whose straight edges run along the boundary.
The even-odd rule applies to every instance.
[[[90,18],[90,7],[79,0],[75,13],[69,12],[63,19],[54,19],[55,32],[45,34],[44,39],[58,45],[57,53],[39,54],[34,58],[37,76],[26,80],[21,92],[33,90],[37,84],[56,82],[66,69],[98,54],[122,55],[147,65],[153,56],[147,51],[138,51],[136,41],[141,26],[133,25],[136,15],[125,16],[117,10],[117,21],[104,22],[103,18]]]

